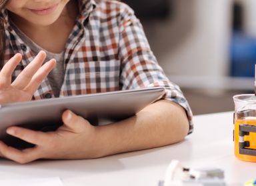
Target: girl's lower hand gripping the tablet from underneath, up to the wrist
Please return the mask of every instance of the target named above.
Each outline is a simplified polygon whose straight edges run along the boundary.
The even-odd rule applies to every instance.
[[[53,132],[31,131],[21,127],[9,127],[7,133],[35,147],[15,149],[0,142],[0,156],[18,163],[35,159],[85,159],[95,157],[99,147],[94,145],[96,127],[83,117],[67,110],[62,116],[63,125]]]

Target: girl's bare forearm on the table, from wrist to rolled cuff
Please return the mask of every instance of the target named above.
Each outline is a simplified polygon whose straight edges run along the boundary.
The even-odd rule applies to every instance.
[[[100,150],[95,156],[170,145],[184,139],[188,130],[185,110],[172,101],[160,100],[134,117],[97,127],[95,145]]]

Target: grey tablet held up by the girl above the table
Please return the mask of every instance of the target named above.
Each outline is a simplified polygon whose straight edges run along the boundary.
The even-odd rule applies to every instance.
[[[149,87],[0,105],[0,140],[21,147],[21,140],[7,135],[7,127],[54,131],[63,124],[61,115],[66,109],[88,119],[92,125],[101,125],[99,121],[119,121],[159,99],[164,90],[163,87]]]

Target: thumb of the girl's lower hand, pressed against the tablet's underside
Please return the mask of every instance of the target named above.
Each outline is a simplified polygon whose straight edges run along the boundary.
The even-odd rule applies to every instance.
[[[64,125],[73,133],[81,133],[89,122],[83,117],[75,115],[72,111],[66,110],[62,115]]]

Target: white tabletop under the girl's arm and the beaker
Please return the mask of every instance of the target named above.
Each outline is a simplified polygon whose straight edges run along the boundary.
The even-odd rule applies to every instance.
[[[256,163],[239,161],[233,153],[233,113],[194,117],[195,131],[167,147],[78,161],[35,161],[18,165],[0,160],[0,179],[60,177],[65,186],[157,186],[172,159],[185,167],[219,167],[228,185],[256,178]]]

